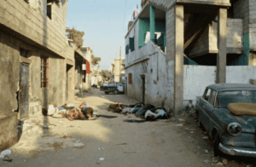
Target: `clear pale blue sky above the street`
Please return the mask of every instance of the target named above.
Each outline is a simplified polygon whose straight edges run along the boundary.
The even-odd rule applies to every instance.
[[[134,9],[141,10],[141,0],[68,1],[67,27],[84,32],[84,46],[102,57],[101,69],[109,70],[114,58],[125,57],[125,34]],[[126,4],[126,5],[125,5]]]

